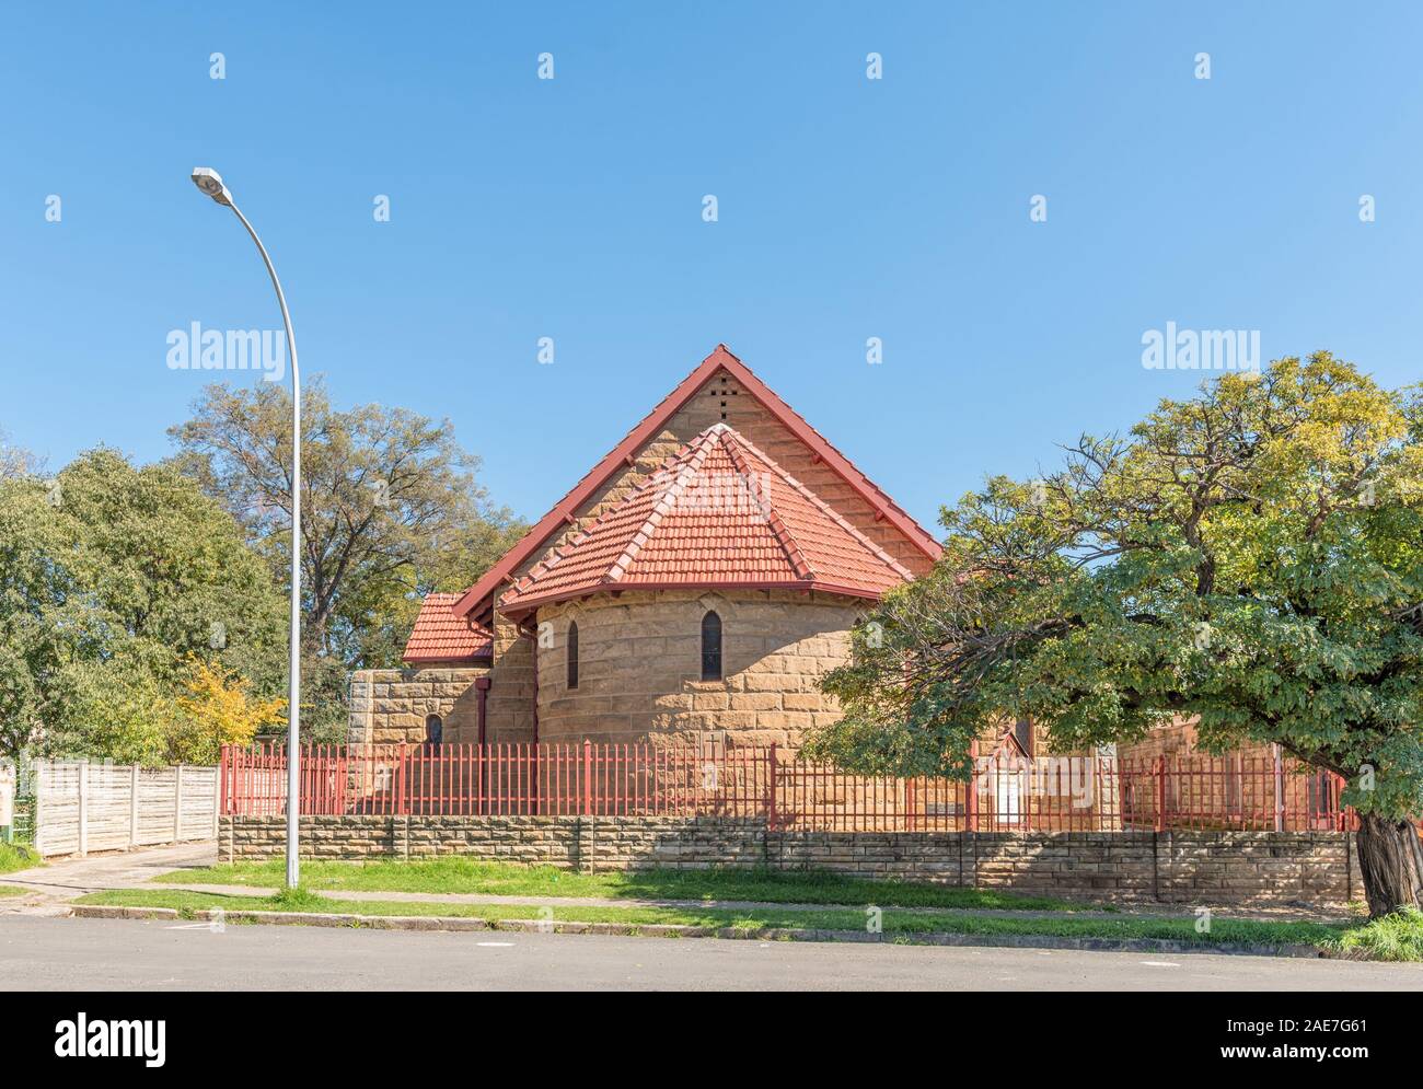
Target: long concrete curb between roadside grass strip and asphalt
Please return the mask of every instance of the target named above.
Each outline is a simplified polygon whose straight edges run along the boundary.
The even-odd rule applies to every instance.
[[[191,920],[215,922],[219,912],[176,908],[111,907],[73,904],[73,918]],[[411,931],[504,931],[517,934],[606,934],[639,938],[721,938],[730,941],[842,941],[867,945],[959,945],[1019,949],[1080,949],[1091,952],[1217,952],[1239,957],[1295,957],[1311,959],[1369,959],[1358,954],[1335,952],[1313,945],[1195,945],[1171,938],[1066,938],[1037,934],[868,934],[858,930],[801,930],[767,927],[689,927],[673,922],[575,922],[566,920],[504,918],[472,915],[353,915],[323,911],[225,911],[221,920],[233,924],[277,927],[347,927],[351,930]]]

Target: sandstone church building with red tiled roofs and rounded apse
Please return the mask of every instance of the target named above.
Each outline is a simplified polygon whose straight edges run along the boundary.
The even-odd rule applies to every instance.
[[[939,544],[724,344],[462,594],[404,669],[359,670],[351,743],[795,749],[821,676]]]

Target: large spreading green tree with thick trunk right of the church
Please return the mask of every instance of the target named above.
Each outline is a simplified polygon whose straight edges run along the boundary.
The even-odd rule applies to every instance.
[[[1074,749],[1198,716],[1349,780],[1370,911],[1419,905],[1423,397],[1329,353],[1224,374],[945,508],[933,572],[825,680],[811,752],[966,777],[1002,717]]]

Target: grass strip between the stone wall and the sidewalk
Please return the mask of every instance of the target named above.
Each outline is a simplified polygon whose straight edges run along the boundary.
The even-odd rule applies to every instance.
[[[280,888],[286,864],[235,863],[155,877],[169,884]],[[882,907],[1111,911],[1050,897],[1026,897],[915,881],[867,881],[824,870],[643,870],[579,874],[551,866],[515,866],[445,857],[430,861],[302,863],[309,888],[351,893],[490,893],[599,900],[747,900],[760,904],[879,904]]]

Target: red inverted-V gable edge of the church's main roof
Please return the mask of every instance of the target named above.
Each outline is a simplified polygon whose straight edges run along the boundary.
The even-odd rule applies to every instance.
[[[776,396],[771,389],[751,373],[740,359],[731,354],[726,344],[717,344],[700,366],[687,374],[686,379],[667,394],[656,409],[653,409],[628,436],[599,461],[573,488],[545,514],[522,538],[514,545],[498,564],[491,567],[484,577],[464,592],[455,604],[454,611],[460,615],[482,615],[497,591],[512,581],[512,572],[527,559],[534,557],[555,532],[562,530],[578,510],[601,488],[608,480],[626,465],[626,458],[633,457],[672,416],[682,409],[702,386],[719,370],[731,374],[756,400],[778,419],[797,438],[845,483],[862,495],[877,514],[899,530],[911,542],[924,551],[931,559],[938,559],[942,551],[939,542],[911,518],[898,504],[881,491],[864,473],[832,447],[820,431],[811,427],[794,409]]]

